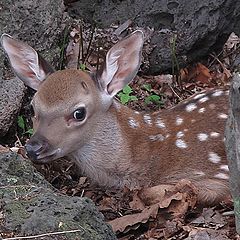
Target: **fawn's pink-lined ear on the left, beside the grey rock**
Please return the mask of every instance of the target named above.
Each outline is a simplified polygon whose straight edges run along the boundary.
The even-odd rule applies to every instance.
[[[0,41],[14,72],[30,88],[37,90],[41,82],[54,72],[29,45],[13,39],[8,34],[3,34]]]

